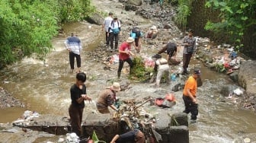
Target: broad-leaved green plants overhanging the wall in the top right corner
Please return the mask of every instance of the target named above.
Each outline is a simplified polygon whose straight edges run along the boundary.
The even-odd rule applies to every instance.
[[[221,21],[213,23],[208,21],[206,30],[215,33],[227,33],[232,44],[239,50],[244,46],[243,38],[249,27],[256,25],[256,1],[255,0],[207,0],[207,8],[213,8],[220,12]],[[253,35],[256,34],[254,31]]]

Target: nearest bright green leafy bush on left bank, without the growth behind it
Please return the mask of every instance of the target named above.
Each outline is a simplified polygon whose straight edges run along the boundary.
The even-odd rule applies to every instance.
[[[42,59],[52,48],[50,40],[57,34],[54,2],[0,2],[0,62],[11,64],[36,53]]]

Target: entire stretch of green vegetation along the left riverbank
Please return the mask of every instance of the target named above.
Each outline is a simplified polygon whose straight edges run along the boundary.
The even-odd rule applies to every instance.
[[[93,11],[90,0],[1,0],[0,68],[24,57],[43,60],[63,22]]]

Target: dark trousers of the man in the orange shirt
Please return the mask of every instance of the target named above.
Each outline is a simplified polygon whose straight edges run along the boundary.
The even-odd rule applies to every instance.
[[[184,113],[191,113],[191,119],[197,119],[198,115],[198,105],[197,103],[192,102],[190,97],[184,96],[183,95],[183,100],[185,104],[185,110],[183,111]]]

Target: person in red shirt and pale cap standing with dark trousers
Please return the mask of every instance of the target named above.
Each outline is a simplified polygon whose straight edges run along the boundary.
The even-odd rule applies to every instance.
[[[131,52],[131,47],[134,45],[134,39],[133,37],[129,37],[125,42],[123,42],[119,47],[119,66],[117,70],[117,77],[120,78],[121,71],[123,68],[124,62],[128,62],[130,65],[130,73],[133,69],[133,60],[130,58],[130,56],[133,56],[133,52]]]

